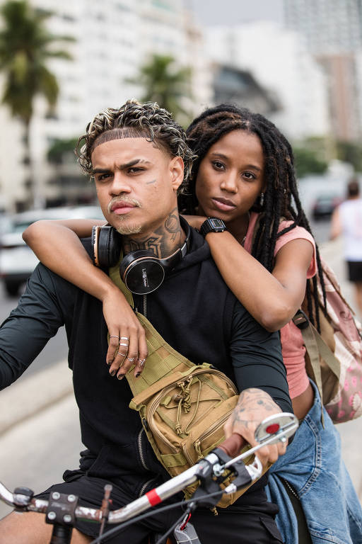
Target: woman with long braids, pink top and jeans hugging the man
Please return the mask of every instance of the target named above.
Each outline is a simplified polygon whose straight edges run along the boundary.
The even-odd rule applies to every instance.
[[[187,135],[197,159],[180,198],[181,208],[197,211],[197,216],[188,217],[195,227],[206,217],[226,223],[225,232],[209,232],[206,241],[240,302],[265,328],[281,329],[293,409],[303,419],[286,455],[269,471],[269,498],[279,504],[276,521],[281,533],[287,543],[310,542],[310,538],[314,543],[361,542],[361,506],[341,462],[339,435],[326,412],[322,427],[320,397],[305,371],[303,339],[291,322],[306,290],[310,317],[318,325],[310,281],[315,284],[320,271],[298,197],[291,146],[262,115],[228,105],[206,110]],[[116,293],[110,279],[95,270],[66,226],[85,236],[91,223],[40,222],[25,231],[24,239],[49,268],[103,301],[110,340],[129,337],[128,356],[142,361],[144,336],[122,293]],[[107,353],[111,373],[117,373],[122,363],[116,347],[110,346]],[[303,523],[293,514],[291,494],[303,506],[308,525],[303,536],[298,535]]]

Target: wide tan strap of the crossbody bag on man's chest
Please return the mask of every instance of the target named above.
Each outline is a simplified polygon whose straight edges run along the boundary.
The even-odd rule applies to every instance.
[[[127,289],[126,285],[124,285],[119,276],[119,263],[110,268],[109,274],[112,282],[117,285],[117,287],[126,297],[127,302],[129,302],[132,308],[134,308],[132,293]],[[142,327],[144,327],[146,333],[146,343],[148,348],[147,363],[144,366],[144,370],[142,370],[141,375],[139,375],[139,378],[134,376],[134,365],[132,365],[132,367],[126,373],[126,378],[134,397],[137,396],[137,399],[139,400],[141,397],[147,398],[149,396],[148,392],[141,395],[142,392],[159,380],[174,374],[177,366],[182,365],[184,369],[185,367],[186,369],[193,369],[196,365],[170,346],[170,344],[163,339],[163,337],[158,333],[158,331],[156,331],[153,325],[143,314],[136,312],[136,317],[139,319],[139,322],[141,323]],[[189,371],[186,370],[186,372],[180,373],[180,378],[182,378],[184,374],[187,375],[188,372]],[[173,382],[174,377],[171,376],[171,378],[172,379],[170,382]],[[168,385],[168,383],[165,383],[165,385]],[[156,386],[156,391],[157,390],[158,386]],[[141,395],[141,397],[138,397],[138,395]]]

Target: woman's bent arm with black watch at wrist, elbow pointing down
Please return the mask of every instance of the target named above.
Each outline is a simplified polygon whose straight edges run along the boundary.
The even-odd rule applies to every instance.
[[[206,219],[185,215],[199,229]],[[206,241],[226,284],[268,331],[278,331],[296,314],[305,295],[313,246],[305,239],[286,243],[276,254],[272,273],[250,255],[230,232],[209,232]]]

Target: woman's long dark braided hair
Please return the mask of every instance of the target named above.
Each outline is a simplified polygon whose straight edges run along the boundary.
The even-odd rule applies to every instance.
[[[232,130],[245,130],[257,135],[264,151],[264,179],[267,190],[263,205],[261,206],[257,201],[252,208],[253,211],[260,212],[252,255],[271,271],[274,267],[274,248],[277,238],[297,225],[304,227],[311,234],[312,232],[298,195],[291,145],[276,126],[263,115],[252,113],[247,108],[221,104],[215,108],[206,109],[189,125],[186,131],[187,140],[197,158],[194,160],[191,176],[182,186],[182,194],[179,197],[180,208],[185,212],[194,213],[194,208],[197,206],[195,184],[202,159],[211,145]],[[278,232],[279,222],[283,218],[292,220],[293,223]],[[318,248],[317,266],[325,300],[325,285]],[[306,294],[310,320],[320,329],[316,276],[307,280]]]

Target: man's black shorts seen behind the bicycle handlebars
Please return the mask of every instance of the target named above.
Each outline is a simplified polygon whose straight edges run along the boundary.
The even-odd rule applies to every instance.
[[[103,489],[107,482],[101,478],[78,477],[68,483],[56,484],[47,491],[37,495],[40,499],[47,499],[49,492],[58,491],[64,494],[75,494],[79,497],[81,506],[99,508],[103,499]],[[229,506],[228,509],[218,509],[215,516],[209,509],[199,508],[190,520],[197,531],[202,544],[228,543],[228,544],[280,544],[281,534],[276,527],[274,516],[278,511],[275,504],[267,502],[267,496],[262,490],[250,494],[250,506]],[[111,509],[119,509],[121,506],[134,500],[120,487],[113,485]],[[173,499],[163,502],[170,504]],[[175,502],[175,501],[173,501]],[[251,506],[255,503],[256,506]],[[162,506],[162,505],[161,505]],[[158,507],[153,508],[154,515],[144,520],[133,523],[122,529],[116,535],[105,538],[107,544],[148,544],[148,538],[153,534],[162,535],[182,514],[182,509],[177,507],[165,512],[158,512]],[[115,525],[107,525],[105,530],[114,528]],[[98,536],[99,525],[88,521],[78,521],[76,528],[82,533],[95,538]],[[174,540],[173,540],[174,542]]]

